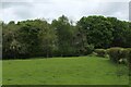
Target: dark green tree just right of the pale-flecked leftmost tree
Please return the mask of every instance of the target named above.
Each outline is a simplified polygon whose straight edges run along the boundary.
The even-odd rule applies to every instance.
[[[17,39],[21,44],[26,46],[26,50],[29,52],[31,57],[36,53],[36,48],[38,48],[38,30],[39,28],[29,24],[26,24],[19,29]]]

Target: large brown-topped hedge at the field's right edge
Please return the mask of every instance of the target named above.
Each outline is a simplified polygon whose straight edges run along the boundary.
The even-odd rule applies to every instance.
[[[131,48],[109,48],[107,49],[107,53],[112,62],[124,62],[131,69]]]

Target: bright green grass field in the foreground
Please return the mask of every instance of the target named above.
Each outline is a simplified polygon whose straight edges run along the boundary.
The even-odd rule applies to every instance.
[[[124,65],[97,57],[3,61],[3,85],[128,85]]]

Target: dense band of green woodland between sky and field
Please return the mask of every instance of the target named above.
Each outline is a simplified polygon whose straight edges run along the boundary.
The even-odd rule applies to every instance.
[[[94,49],[131,48],[131,23],[116,17],[83,16],[75,24],[62,15],[48,23],[2,22],[3,59],[87,55]]]

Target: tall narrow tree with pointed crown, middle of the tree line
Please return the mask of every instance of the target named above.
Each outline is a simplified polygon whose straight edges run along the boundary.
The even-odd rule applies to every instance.
[[[70,24],[67,16],[62,15],[52,21],[52,27],[56,29],[57,45],[60,55],[72,55],[74,52],[73,47],[73,26]]]

